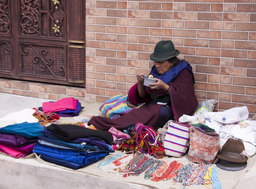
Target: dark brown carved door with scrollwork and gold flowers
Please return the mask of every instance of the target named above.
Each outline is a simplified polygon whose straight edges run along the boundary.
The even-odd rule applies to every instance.
[[[85,86],[85,0],[0,0],[0,77]]]

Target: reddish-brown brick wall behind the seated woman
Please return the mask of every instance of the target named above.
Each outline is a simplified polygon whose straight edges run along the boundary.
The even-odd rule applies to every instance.
[[[199,101],[256,113],[256,0],[86,1],[86,98],[126,94],[160,40],[193,67]]]

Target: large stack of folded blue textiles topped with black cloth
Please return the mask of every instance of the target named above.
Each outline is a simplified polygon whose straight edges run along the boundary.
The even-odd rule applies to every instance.
[[[70,169],[80,169],[114,152],[110,132],[78,125],[51,124],[41,131],[33,152],[44,161]]]

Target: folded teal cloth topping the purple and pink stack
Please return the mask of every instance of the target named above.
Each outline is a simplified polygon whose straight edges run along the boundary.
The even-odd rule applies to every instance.
[[[27,138],[41,136],[43,127],[40,123],[18,123],[0,128],[1,133],[19,134]]]

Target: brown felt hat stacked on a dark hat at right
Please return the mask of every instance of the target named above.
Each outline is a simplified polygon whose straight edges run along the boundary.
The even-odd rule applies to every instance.
[[[242,163],[248,160],[245,155],[245,148],[242,140],[229,138],[222,146],[221,152],[217,157],[226,161]]]

